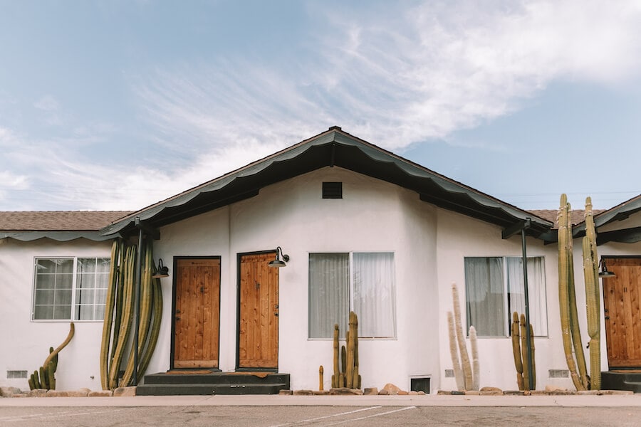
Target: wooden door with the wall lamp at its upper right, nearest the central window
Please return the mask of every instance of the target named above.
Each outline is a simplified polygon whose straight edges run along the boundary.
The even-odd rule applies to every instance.
[[[278,367],[276,253],[242,255],[239,285],[239,368]]]

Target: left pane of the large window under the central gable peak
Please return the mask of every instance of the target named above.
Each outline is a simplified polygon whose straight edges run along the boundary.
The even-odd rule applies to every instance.
[[[309,255],[309,337],[331,338],[338,323],[345,337],[349,316],[348,253]]]

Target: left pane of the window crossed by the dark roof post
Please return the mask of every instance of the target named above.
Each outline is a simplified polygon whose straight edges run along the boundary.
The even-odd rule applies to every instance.
[[[484,337],[506,336],[502,258],[465,258],[467,327]]]

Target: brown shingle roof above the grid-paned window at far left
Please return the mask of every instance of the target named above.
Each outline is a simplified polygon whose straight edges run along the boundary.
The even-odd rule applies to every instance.
[[[97,231],[130,211],[0,211],[0,231]]]

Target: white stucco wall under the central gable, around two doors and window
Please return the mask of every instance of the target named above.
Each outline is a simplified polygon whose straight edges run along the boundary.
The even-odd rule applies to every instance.
[[[321,199],[323,181],[342,181],[343,199]],[[291,256],[280,270],[280,371],[294,389],[316,389],[318,367],[330,386],[331,340],[308,339],[308,254],[395,253],[395,339],[361,339],[363,386],[387,382],[409,389],[410,376],[439,371],[437,346],[436,209],[415,192],[338,167],[320,169],[266,187],[232,206],[161,229],[155,254],[222,257],[220,369],[236,365],[236,255],[281,246]],[[171,278],[162,279],[169,309]],[[150,371],[170,367],[170,314]],[[166,321],[165,321],[166,320]],[[163,341],[164,340],[164,341]]]

